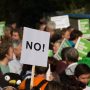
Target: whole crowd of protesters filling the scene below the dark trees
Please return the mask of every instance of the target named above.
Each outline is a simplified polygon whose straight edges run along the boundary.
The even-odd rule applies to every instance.
[[[34,85],[31,88],[32,65],[20,63],[23,28],[17,27],[16,22],[6,24],[4,36],[0,38],[0,80],[4,80],[0,83],[0,90],[90,90],[90,52],[79,60],[79,53],[74,48],[78,38],[82,37],[82,32],[71,26],[55,30],[52,21],[40,22],[38,25],[38,30],[50,32],[49,50],[52,50],[52,54],[48,55],[48,66],[35,67]],[[61,60],[57,60],[53,56],[64,38],[71,47],[63,48]],[[50,75],[47,79],[48,68]],[[9,83],[11,78],[5,76],[7,73],[21,77],[18,87]]]

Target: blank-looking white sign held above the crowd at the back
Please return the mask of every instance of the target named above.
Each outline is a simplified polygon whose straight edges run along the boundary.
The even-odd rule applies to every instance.
[[[62,29],[70,26],[68,15],[51,17],[51,21],[55,22],[56,29]]]

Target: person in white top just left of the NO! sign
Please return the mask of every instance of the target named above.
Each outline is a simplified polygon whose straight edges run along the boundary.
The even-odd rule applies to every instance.
[[[9,67],[10,67],[10,72],[20,74],[22,71],[22,64],[20,63],[20,57],[21,57],[21,48],[22,48],[22,43],[17,42],[14,43],[14,54],[15,58],[13,58],[12,61],[9,62]]]

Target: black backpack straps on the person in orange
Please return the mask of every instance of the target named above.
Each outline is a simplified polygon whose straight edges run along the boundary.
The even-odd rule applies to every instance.
[[[47,80],[42,80],[37,86],[34,86],[31,90],[40,90],[40,88],[47,82]],[[30,79],[26,80],[26,89],[30,90]]]

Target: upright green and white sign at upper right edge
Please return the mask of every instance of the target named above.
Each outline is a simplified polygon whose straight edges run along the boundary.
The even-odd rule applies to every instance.
[[[79,19],[78,28],[83,33],[83,38],[90,39],[89,19]]]

